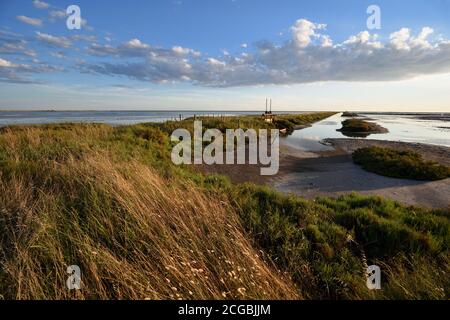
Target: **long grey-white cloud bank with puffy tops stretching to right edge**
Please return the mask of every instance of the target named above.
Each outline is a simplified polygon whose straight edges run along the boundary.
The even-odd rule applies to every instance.
[[[233,87],[320,81],[383,81],[450,72],[450,42],[431,41],[433,29],[416,35],[393,32],[389,41],[362,31],[333,43],[326,25],[305,19],[291,28],[291,40],[257,43],[251,52],[204,57],[180,46],[156,48],[138,39],[117,46],[92,44],[88,52],[121,61],[83,65],[84,71],[151,82],[189,81],[202,86]],[[123,62],[123,58],[137,58]]]

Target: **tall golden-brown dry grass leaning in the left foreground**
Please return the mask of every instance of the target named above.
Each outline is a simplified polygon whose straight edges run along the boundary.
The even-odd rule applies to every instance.
[[[225,199],[107,155],[0,177],[6,299],[295,299]],[[82,289],[66,288],[79,265]]]

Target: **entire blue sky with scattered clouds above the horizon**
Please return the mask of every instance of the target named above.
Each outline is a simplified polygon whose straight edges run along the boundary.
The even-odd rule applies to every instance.
[[[450,0],[0,0],[2,110],[263,110],[266,97],[275,111],[450,112]]]

